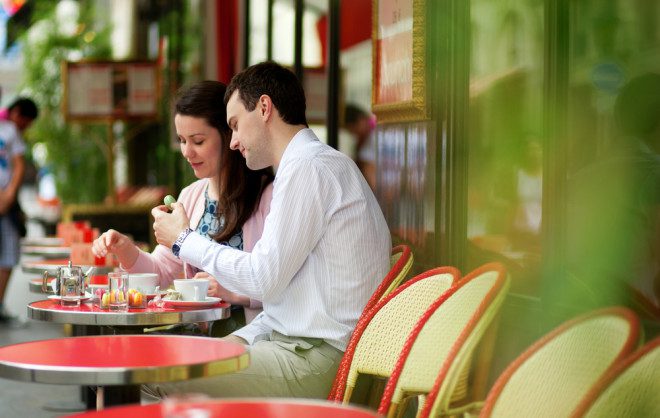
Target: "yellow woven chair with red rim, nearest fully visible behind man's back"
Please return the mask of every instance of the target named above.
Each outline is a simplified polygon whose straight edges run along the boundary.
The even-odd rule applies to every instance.
[[[348,343],[329,399],[348,403],[360,374],[389,377],[415,323],[459,276],[452,267],[429,270],[365,312]]]

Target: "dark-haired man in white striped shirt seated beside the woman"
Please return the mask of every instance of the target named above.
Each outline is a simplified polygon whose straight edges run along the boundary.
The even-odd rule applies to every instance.
[[[272,166],[271,210],[251,253],[188,228],[179,203],[152,210],[158,243],[263,302],[264,311],[228,337],[248,344],[242,372],[146,388],[212,396],[325,398],[357,319],[389,269],[391,241],[369,185],[347,156],[308,128],[295,75],[266,62],[237,74],[225,94],[231,148],[247,166]]]

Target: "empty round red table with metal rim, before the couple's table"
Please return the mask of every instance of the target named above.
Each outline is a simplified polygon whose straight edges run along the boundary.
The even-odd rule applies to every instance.
[[[141,385],[215,376],[249,365],[245,346],[182,335],[96,335],[0,347],[0,377],[36,383]]]

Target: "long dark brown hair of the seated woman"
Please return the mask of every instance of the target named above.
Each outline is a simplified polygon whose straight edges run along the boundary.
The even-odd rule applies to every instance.
[[[212,238],[227,241],[241,230],[257,209],[261,195],[273,181],[270,168],[250,170],[238,151],[229,148],[231,130],[223,101],[226,86],[218,81],[200,81],[179,90],[174,114],[204,119],[220,134],[220,176],[218,176],[218,219],[224,217],[224,228]]]

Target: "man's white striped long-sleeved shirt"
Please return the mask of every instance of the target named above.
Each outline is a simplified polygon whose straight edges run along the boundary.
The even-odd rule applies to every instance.
[[[263,302],[264,311],[236,332],[250,344],[275,330],[344,350],[387,274],[391,245],[357,166],[303,129],[282,155],[270,213],[252,252],[192,233],[180,257],[227,289]]]

